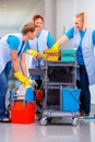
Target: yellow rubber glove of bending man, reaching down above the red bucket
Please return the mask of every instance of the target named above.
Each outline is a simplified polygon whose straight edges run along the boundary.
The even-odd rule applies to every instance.
[[[15,72],[14,73],[14,76],[24,84],[24,86],[28,86],[29,85],[29,81],[27,78],[23,76],[22,73],[19,71],[19,72]]]

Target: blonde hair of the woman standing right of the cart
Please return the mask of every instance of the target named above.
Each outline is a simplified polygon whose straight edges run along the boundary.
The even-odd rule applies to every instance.
[[[75,14],[75,17],[81,17],[82,22],[83,22],[83,31],[86,29],[87,27],[87,15],[85,12],[80,12],[78,14]]]

